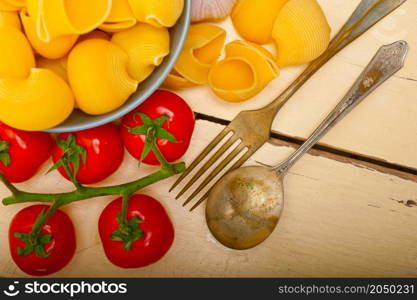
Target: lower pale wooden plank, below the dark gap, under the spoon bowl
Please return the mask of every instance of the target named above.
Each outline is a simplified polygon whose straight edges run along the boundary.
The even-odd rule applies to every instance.
[[[198,121],[190,162],[222,129]],[[266,144],[249,162],[277,163],[293,151],[290,145]],[[45,173],[48,165],[41,173]],[[154,170],[137,169],[127,155],[122,168],[103,184],[123,183]],[[223,277],[223,276],[417,276],[417,178],[404,179],[313,151],[285,179],[285,208],[279,226],[269,240],[255,249],[232,251],[210,235],[204,205],[189,213],[167,190],[174,178],[144,193],[160,199],[172,217],[176,239],[158,263],[125,270],[104,257],[97,221],[111,198],[74,203],[65,211],[74,221],[77,253],[55,277]],[[67,191],[71,185],[56,172],[39,175],[19,187],[31,191]],[[0,196],[8,192],[0,185]],[[0,212],[0,276],[25,276],[12,262],[7,228],[24,205],[2,207]]]

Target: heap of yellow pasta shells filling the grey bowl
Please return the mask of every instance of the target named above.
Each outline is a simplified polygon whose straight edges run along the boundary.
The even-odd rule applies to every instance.
[[[170,51],[184,0],[0,0],[0,121],[22,130],[111,112]]]

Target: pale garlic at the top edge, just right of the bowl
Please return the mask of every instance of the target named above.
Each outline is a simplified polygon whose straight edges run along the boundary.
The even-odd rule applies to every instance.
[[[191,22],[219,20],[230,15],[236,0],[193,0]]]

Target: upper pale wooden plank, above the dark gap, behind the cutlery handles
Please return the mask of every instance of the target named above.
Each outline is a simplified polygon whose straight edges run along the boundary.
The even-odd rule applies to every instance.
[[[350,16],[359,0],[320,0],[333,34]],[[282,109],[273,124],[275,132],[306,138],[325,115],[347,92],[377,49],[399,39],[410,44],[406,66],[396,77],[381,86],[363,104],[340,123],[322,143],[417,169],[417,35],[415,14],[417,1],[409,0],[363,37],[344,49],[325,65]],[[238,38],[230,20],[221,23],[228,41]],[[273,49],[273,47],[268,47]],[[227,103],[207,87],[179,93],[197,112],[231,120],[241,110],[257,109],[280,94],[303,70],[304,66],[281,70],[279,78],[259,95],[244,103]]]

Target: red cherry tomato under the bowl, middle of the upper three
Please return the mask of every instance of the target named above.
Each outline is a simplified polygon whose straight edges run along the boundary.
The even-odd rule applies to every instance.
[[[58,139],[66,140],[70,133],[58,135]],[[81,184],[92,184],[102,181],[113,174],[123,161],[124,148],[118,127],[113,123],[72,133],[76,143],[87,151],[86,164],[80,160],[77,180]],[[64,151],[55,144],[52,158],[57,162]],[[71,168],[72,168],[72,164]],[[64,167],[58,171],[69,179]]]

